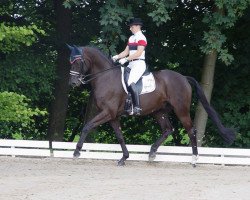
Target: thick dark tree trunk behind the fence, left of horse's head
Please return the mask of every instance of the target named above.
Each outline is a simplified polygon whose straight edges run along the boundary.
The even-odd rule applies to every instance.
[[[56,13],[56,46],[57,46],[57,80],[54,90],[54,101],[51,105],[48,137],[50,141],[62,141],[68,105],[69,89],[69,52],[66,43],[70,41],[71,10],[63,6],[63,0],[54,0]]]

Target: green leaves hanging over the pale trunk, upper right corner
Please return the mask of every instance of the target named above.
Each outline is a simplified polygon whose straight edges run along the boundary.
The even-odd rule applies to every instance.
[[[203,22],[208,25],[209,30],[204,33],[204,45],[201,47],[203,53],[209,53],[216,50],[219,53],[219,59],[226,65],[233,61],[233,56],[226,47],[226,36],[223,34],[225,29],[233,27],[236,21],[243,15],[250,4],[249,0],[240,1],[214,1],[214,9],[217,12],[207,12]]]

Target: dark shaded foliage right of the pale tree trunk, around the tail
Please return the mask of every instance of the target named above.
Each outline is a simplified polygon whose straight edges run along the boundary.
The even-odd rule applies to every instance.
[[[235,23],[234,28],[226,32],[229,52],[234,56],[230,66],[217,63],[212,105],[221,114],[226,124],[237,131],[233,147],[250,147],[250,7]],[[209,133],[209,134],[208,134]],[[208,121],[204,145],[225,146],[216,136]]]

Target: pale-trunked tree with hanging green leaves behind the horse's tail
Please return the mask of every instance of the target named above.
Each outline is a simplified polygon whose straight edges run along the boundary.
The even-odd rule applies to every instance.
[[[204,40],[206,44],[202,47],[205,58],[201,86],[208,101],[211,99],[213,90],[217,54],[219,54],[219,59],[226,65],[230,64],[233,60],[228,50],[223,48],[226,37],[222,34],[222,31],[234,26],[236,20],[242,16],[242,12],[249,6],[249,0],[240,2],[214,1],[213,3],[212,8],[214,11],[211,14],[208,13],[204,18],[204,22],[208,23],[210,30],[205,33]],[[201,146],[207,123],[207,113],[201,104],[197,107],[194,123],[197,128],[198,146]]]

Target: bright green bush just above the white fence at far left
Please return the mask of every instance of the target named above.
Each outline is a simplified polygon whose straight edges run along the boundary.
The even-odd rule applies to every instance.
[[[29,106],[30,99],[14,92],[0,92],[0,135],[1,138],[39,138],[35,117],[47,112]],[[28,134],[27,134],[28,133]]]

